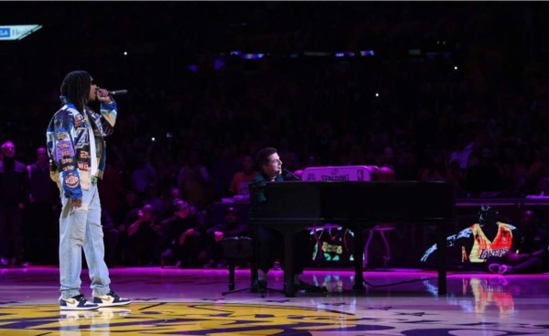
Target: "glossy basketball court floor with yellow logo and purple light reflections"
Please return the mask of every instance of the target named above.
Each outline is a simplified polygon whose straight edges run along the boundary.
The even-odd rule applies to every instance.
[[[544,335],[549,274],[365,272],[366,293],[350,293],[349,269],[307,270],[302,279],[328,294],[242,291],[227,296],[227,270],[114,268],[112,288],[133,302],[96,311],[60,311],[58,269],[0,269],[0,335]],[[82,293],[91,299],[87,272]],[[238,269],[236,287],[249,285]],[[269,287],[282,289],[282,271]]]

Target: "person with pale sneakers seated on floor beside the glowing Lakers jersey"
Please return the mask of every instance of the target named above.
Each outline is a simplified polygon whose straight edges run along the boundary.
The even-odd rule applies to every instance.
[[[514,237],[511,250],[502,257],[491,257],[488,260],[490,272],[512,274],[544,271],[549,234],[537,225],[531,210],[524,212],[522,222],[522,233]]]

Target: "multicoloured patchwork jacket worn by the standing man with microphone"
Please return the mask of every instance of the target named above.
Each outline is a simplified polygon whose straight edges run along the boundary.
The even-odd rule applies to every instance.
[[[96,176],[102,178],[106,159],[104,136],[113,133],[117,107],[113,100],[101,103],[100,114],[89,107],[79,112],[64,96],[61,101],[64,105],[53,115],[46,131],[50,175],[59,188],[64,189],[66,197],[77,199],[82,196],[82,189],[89,189],[92,179],[88,127],[91,126],[96,140]]]

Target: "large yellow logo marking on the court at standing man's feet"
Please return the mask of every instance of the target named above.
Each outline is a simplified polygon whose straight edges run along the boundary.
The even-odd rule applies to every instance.
[[[60,311],[58,305],[0,307],[0,335],[177,334],[272,335],[303,330],[342,331],[371,319],[296,306],[146,302],[97,311]],[[390,327],[370,326],[374,329]]]

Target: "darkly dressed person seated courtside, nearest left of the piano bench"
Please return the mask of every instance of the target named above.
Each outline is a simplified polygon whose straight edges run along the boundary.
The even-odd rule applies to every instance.
[[[238,237],[248,234],[248,225],[240,221],[238,211],[234,207],[228,207],[225,213],[225,223],[217,224],[206,231],[206,239],[210,261],[205,268],[225,268],[226,261],[223,259],[223,247],[221,241],[224,238]]]

